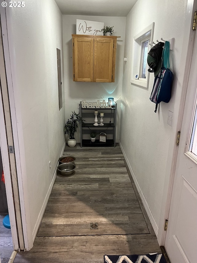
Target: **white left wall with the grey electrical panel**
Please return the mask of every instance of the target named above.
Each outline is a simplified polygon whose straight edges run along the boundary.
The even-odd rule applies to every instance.
[[[65,141],[64,90],[59,110],[56,52],[56,48],[61,50],[64,87],[62,14],[53,0],[26,0],[25,7],[12,8],[11,17],[13,42],[9,45],[15,49],[18,83],[14,92],[21,112],[18,129],[22,127],[23,133],[19,147],[26,166],[23,176],[33,232]]]

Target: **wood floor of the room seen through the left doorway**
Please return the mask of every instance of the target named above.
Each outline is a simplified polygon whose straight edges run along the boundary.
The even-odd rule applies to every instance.
[[[14,250],[11,229],[3,226],[3,218],[7,213],[0,213],[0,257],[2,263],[7,263]]]

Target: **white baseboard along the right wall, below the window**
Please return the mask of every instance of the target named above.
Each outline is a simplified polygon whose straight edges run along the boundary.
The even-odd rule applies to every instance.
[[[154,229],[154,231],[155,231],[155,235],[158,236],[158,226],[157,226],[157,224],[156,224],[156,222],[155,222],[155,219],[154,219],[154,217],[153,217],[153,215],[152,215],[152,213],[151,213],[151,210],[150,210],[150,208],[149,208],[149,206],[148,206],[148,203],[147,203],[147,201],[146,201],[146,199],[145,199],[145,197],[144,197],[144,195],[143,195],[143,192],[142,192],[142,190],[141,190],[141,188],[140,188],[140,186],[139,186],[139,183],[138,183],[138,181],[137,181],[137,179],[136,179],[136,177],[135,177],[135,174],[134,174],[134,172],[133,172],[133,170],[132,170],[132,168],[131,168],[131,165],[130,165],[130,163],[129,163],[129,160],[128,160],[128,158],[127,158],[127,155],[126,155],[126,153],[125,153],[125,151],[124,151],[124,149],[123,149],[123,146],[122,146],[120,140],[119,140],[119,145],[120,145],[120,148],[121,148],[121,150],[122,150],[122,152],[123,152],[123,155],[124,155],[124,158],[125,158],[125,160],[126,160],[126,162],[127,162],[127,165],[128,165],[128,167],[129,167],[129,171],[131,172],[131,175],[132,175],[132,178],[133,178],[133,180],[134,180],[135,186],[136,186],[136,188],[137,188],[137,190],[138,190],[138,192],[139,192],[140,198],[142,199],[142,203],[143,203],[144,208],[145,208],[145,210],[146,210],[146,212],[147,212],[148,218],[149,218],[149,220],[150,220],[150,222],[151,222],[151,225],[152,225],[152,227],[153,227],[153,229]]]

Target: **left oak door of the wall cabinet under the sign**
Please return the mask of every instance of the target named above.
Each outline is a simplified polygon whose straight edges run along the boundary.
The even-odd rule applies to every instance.
[[[94,39],[74,38],[74,81],[93,81]]]

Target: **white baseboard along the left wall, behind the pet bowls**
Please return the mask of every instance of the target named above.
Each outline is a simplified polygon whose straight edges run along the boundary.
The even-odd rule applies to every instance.
[[[62,154],[63,154],[63,152],[64,152],[64,149],[65,149],[65,146],[66,146],[66,142],[64,142],[64,146],[63,146],[63,148],[62,148],[62,151],[61,151],[60,156],[62,156]],[[49,201],[49,197],[50,197],[51,191],[52,191],[52,189],[53,189],[53,185],[54,185],[54,183],[55,183],[55,179],[56,179],[56,176],[57,176],[57,168],[58,168],[58,163],[57,163],[57,166],[56,166],[56,169],[55,169],[53,178],[52,178],[52,180],[51,180],[51,183],[50,183],[50,186],[49,186],[49,190],[47,191],[46,197],[45,197],[45,199],[44,199],[44,203],[42,204],[42,208],[41,208],[41,210],[40,210],[40,213],[39,213],[37,222],[36,222],[36,224],[35,224],[34,231],[33,231],[33,233],[32,233],[33,242],[34,242],[34,240],[35,240],[35,238],[36,238],[38,229],[39,229],[40,224],[41,224],[41,222],[42,222],[42,217],[44,216],[44,212],[45,212],[47,203],[48,203],[48,201]]]

